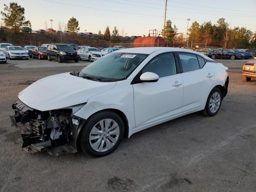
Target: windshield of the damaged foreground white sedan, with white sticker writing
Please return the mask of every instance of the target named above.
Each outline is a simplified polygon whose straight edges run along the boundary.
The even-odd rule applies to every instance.
[[[79,76],[92,76],[101,81],[119,81],[126,79],[147,57],[147,54],[111,53],[80,71]]]

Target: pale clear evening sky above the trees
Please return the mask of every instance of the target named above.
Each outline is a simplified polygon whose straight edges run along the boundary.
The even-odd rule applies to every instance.
[[[256,32],[256,0],[168,0],[166,20],[172,20],[178,32],[186,34],[187,18],[189,26],[218,18],[234,26],[244,26]],[[148,35],[149,30],[162,30],[164,26],[165,0],[0,0],[3,4],[17,2],[25,8],[26,20],[30,20],[32,30],[50,28],[58,30],[58,22],[67,23],[71,17],[79,21],[80,32],[104,33],[106,26],[112,31],[114,26],[124,36]],[[58,3],[57,3],[58,2]],[[209,3],[211,2],[211,3]],[[0,16],[2,18],[2,16]]]

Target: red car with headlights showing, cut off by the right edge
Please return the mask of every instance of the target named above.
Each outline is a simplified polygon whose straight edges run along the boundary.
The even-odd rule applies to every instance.
[[[243,66],[242,80],[250,81],[252,78],[256,79],[256,57],[254,61],[249,61]]]

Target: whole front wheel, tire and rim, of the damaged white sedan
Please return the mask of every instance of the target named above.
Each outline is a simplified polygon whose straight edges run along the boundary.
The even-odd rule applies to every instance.
[[[88,119],[80,133],[82,152],[93,157],[112,153],[124,136],[124,122],[112,111],[98,112]]]

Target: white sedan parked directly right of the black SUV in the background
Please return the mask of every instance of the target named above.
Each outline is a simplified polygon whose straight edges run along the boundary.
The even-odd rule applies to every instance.
[[[85,59],[90,62],[96,61],[98,58],[102,58],[105,53],[95,47],[82,48],[77,51],[80,55],[80,60]]]

